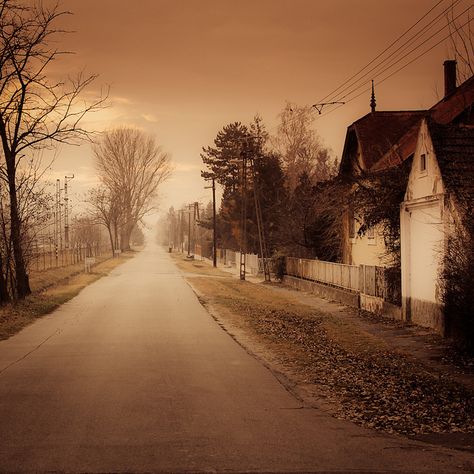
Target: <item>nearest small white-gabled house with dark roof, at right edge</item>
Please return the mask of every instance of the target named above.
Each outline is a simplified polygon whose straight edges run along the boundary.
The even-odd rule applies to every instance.
[[[404,320],[445,333],[440,276],[453,225],[473,203],[474,126],[424,119],[400,211]]]

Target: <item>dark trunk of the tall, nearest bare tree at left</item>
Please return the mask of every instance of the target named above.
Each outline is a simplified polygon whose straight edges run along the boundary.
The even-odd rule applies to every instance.
[[[15,156],[5,154],[5,161],[7,164],[8,192],[10,196],[10,232],[13,247],[13,259],[15,263],[14,292],[17,298],[24,298],[31,293],[31,289],[21,242],[22,229],[16,193]]]

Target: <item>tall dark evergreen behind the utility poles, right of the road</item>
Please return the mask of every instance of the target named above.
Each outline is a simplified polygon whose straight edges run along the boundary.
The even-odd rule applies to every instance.
[[[263,121],[256,116],[249,125],[234,122],[223,127],[214,147],[203,148],[201,154],[205,179],[214,178],[223,186],[218,215],[218,244],[239,249],[242,243],[242,168],[247,161],[246,241],[249,252],[259,252],[255,195],[262,210],[263,225],[269,247],[276,242],[276,228],[284,194],[283,172],[279,157],[267,149],[268,134]]]

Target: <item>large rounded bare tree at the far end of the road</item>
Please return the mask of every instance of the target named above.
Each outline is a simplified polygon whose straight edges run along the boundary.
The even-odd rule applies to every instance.
[[[121,245],[127,250],[133,227],[154,209],[158,187],[170,176],[169,156],[152,136],[127,127],[105,132],[94,154],[103,185],[120,203]]]

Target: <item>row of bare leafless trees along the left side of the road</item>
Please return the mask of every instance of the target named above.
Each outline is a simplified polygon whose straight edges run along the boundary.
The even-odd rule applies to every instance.
[[[169,156],[153,137],[126,127],[97,134],[83,126],[87,114],[108,105],[108,90],[85,99],[94,97],[97,75],[57,79],[51,71],[69,54],[58,47],[58,36],[67,33],[58,25],[69,14],[55,2],[0,0],[0,304],[30,294],[32,246],[61,212],[45,179],[51,163],[42,163],[44,150],[93,143],[101,186],[87,197],[89,215],[74,219],[74,239],[96,245],[103,224],[112,251],[130,247],[170,173]]]

